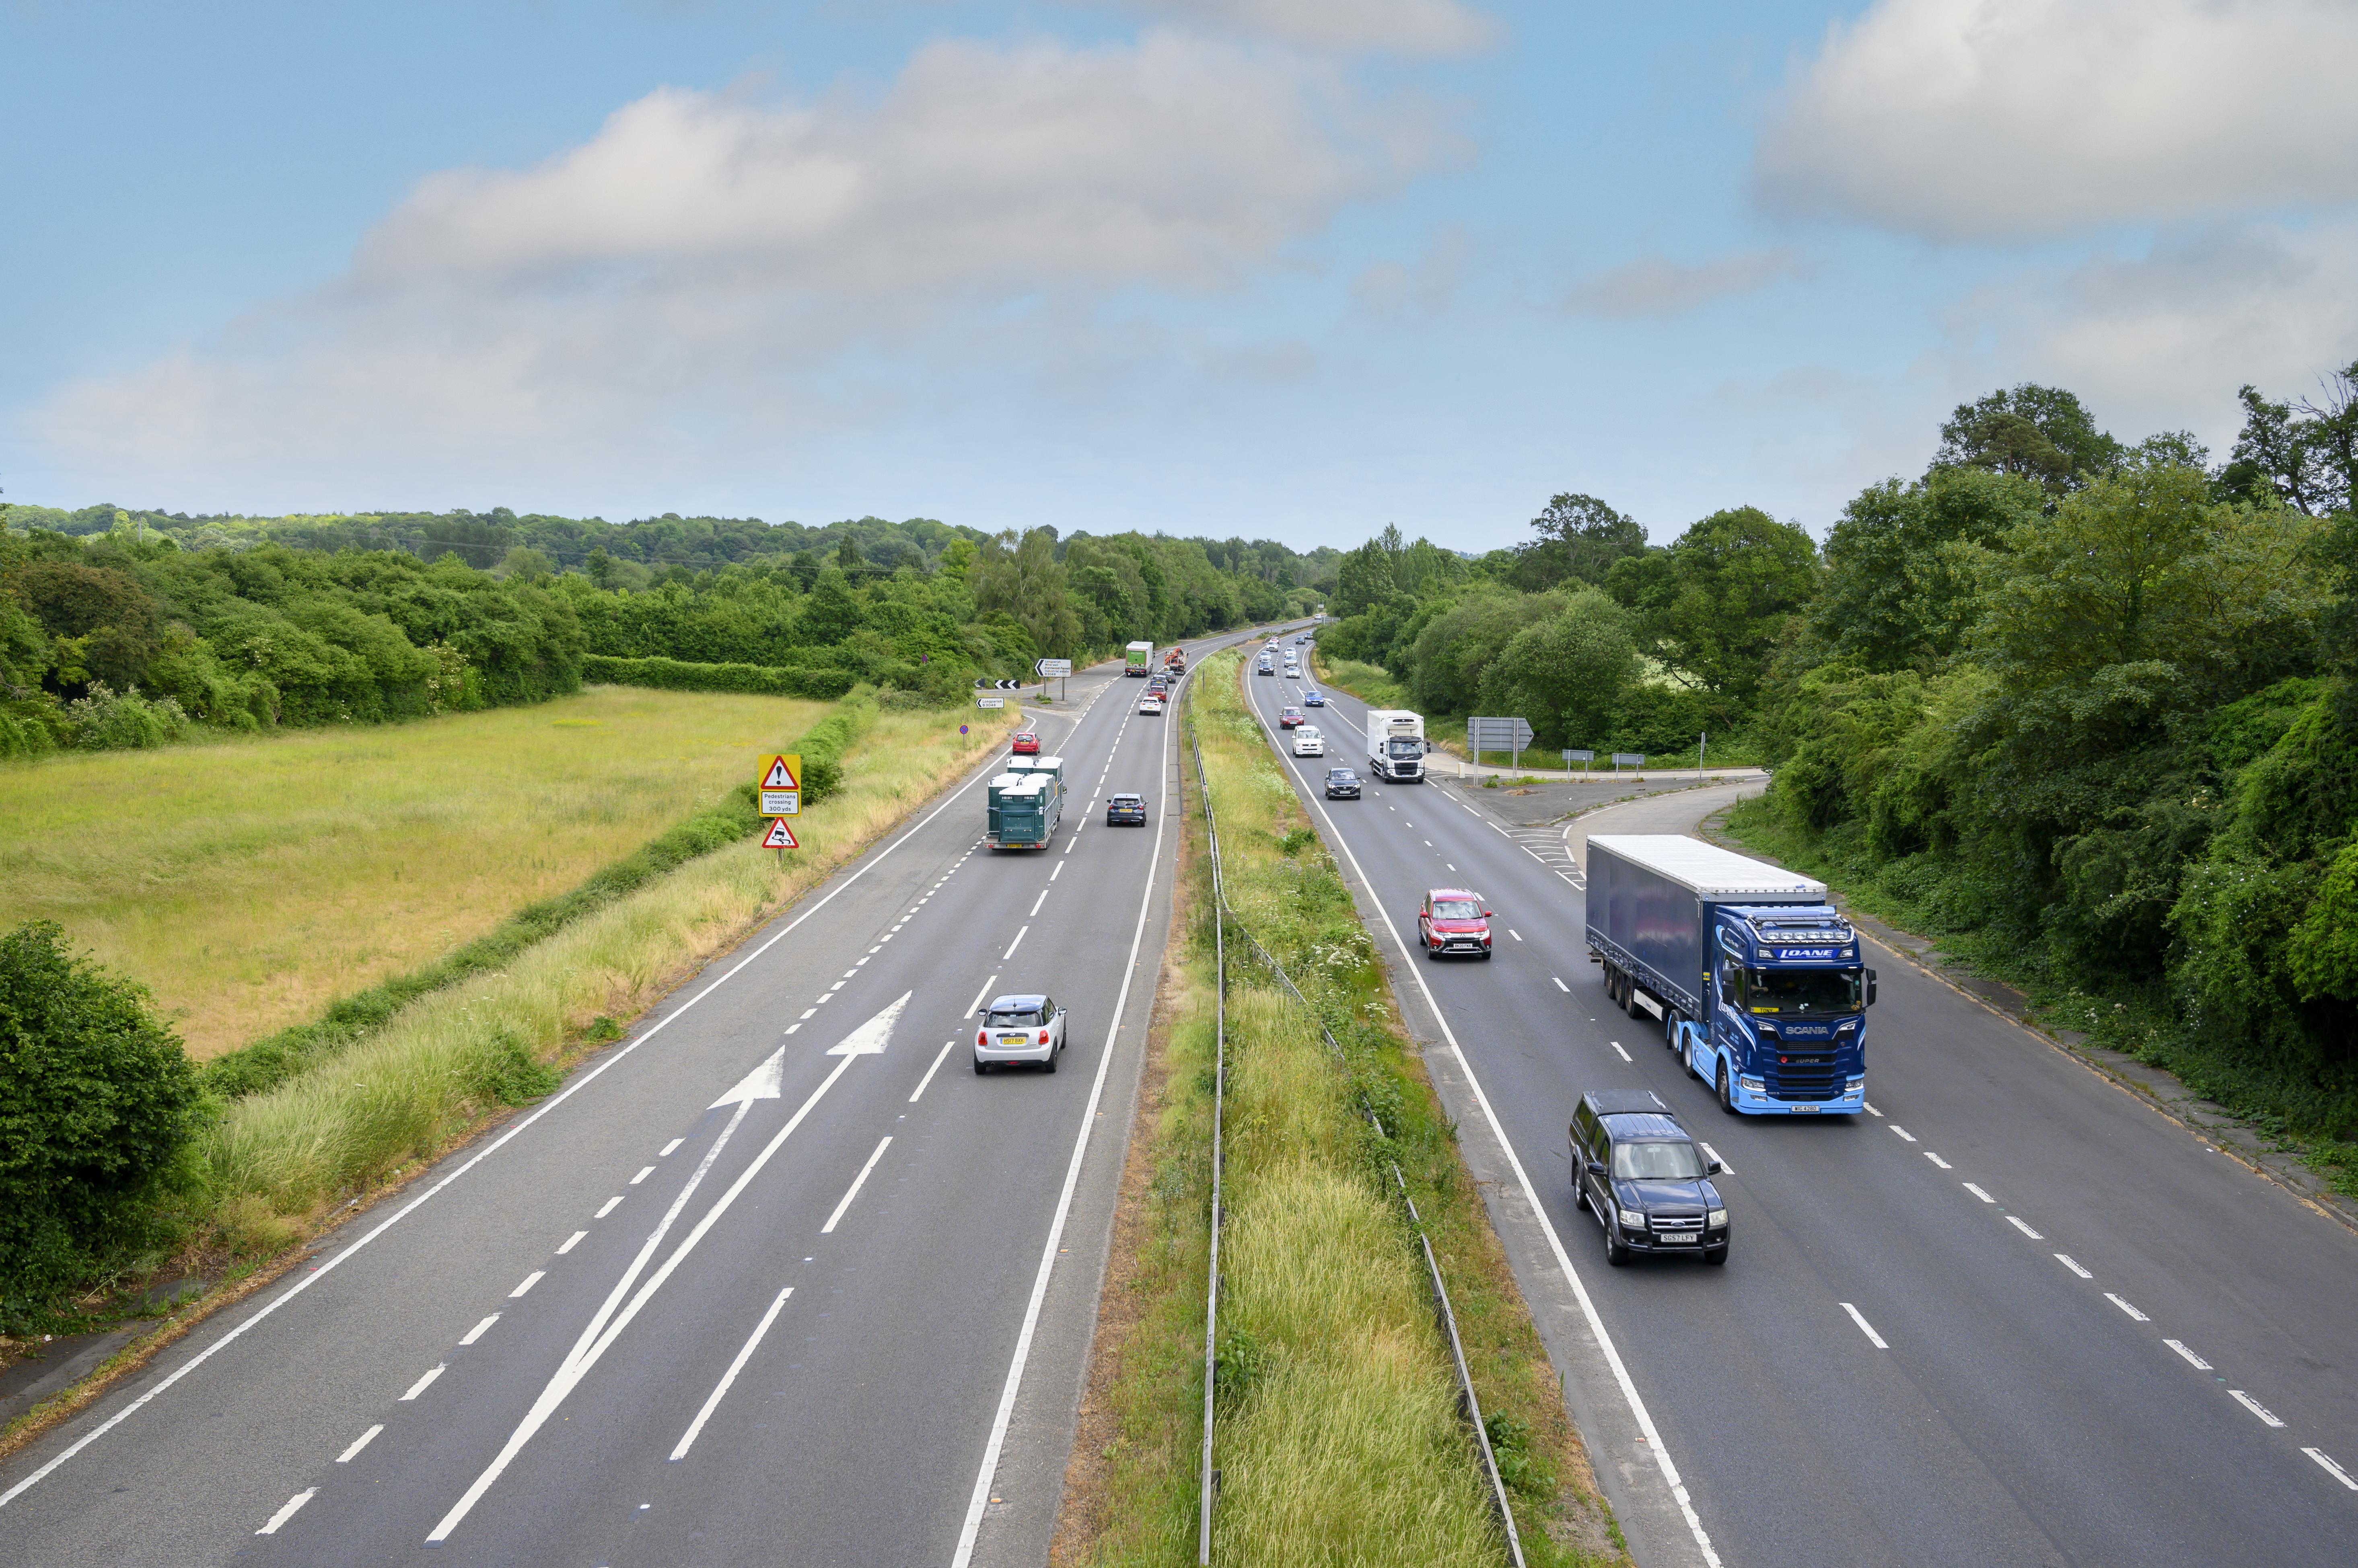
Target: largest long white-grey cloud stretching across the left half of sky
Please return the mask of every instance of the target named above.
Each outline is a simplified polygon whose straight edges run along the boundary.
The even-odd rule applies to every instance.
[[[420,182],[332,285],[64,387],[33,436],[101,488],[172,493],[788,467],[974,375],[1002,398],[1066,375],[1045,340],[1099,304],[1243,288],[1462,158],[1422,99],[1167,33],[936,42],[865,97],[660,90],[538,167]],[[1200,363],[1221,356],[1273,373]]]

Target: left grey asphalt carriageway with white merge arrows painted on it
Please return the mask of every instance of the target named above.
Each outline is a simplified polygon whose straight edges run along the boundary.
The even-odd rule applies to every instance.
[[[0,1563],[1045,1561],[1170,917],[1141,691],[1040,714],[1049,851],[981,846],[979,766],[12,1457]],[[1071,1009],[1061,1070],[971,1070],[1002,990]]]

